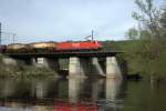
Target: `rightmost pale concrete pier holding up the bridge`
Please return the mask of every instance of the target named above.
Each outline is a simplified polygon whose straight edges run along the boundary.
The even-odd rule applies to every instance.
[[[123,78],[121,67],[115,57],[106,57],[106,78]]]

